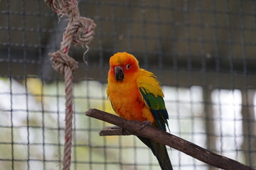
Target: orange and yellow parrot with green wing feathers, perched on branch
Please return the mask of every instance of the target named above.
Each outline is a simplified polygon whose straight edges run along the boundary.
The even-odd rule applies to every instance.
[[[153,73],[140,69],[133,55],[117,52],[110,57],[107,81],[107,96],[120,117],[146,121],[166,131],[169,116],[159,81]],[[165,145],[146,137],[139,139],[151,148],[162,170],[172,169]]]

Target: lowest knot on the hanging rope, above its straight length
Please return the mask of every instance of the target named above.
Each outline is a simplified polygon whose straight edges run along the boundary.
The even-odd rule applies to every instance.
[[[72,72],[75,72],[75,69],[78,69],[78,62],[68,56],[68,54],[64,54],[58,50],[57,52],[50,53],[49,55],[53,56],[50,58],[53,62],[53,69],[60,74],[64,75],[65,67],[70,67]]]

